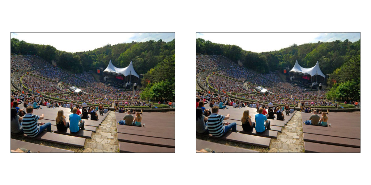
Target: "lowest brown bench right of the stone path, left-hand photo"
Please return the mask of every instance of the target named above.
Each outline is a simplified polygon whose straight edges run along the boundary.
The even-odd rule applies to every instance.
[[[175,148],[118,142],[120,152],[175,152]]]

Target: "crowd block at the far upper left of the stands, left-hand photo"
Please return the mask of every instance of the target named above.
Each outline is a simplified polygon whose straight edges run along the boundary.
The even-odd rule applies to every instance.
[[[39,60],[33,60],[32,55],[10,55],[10,73],[38,65],[42,63]]]

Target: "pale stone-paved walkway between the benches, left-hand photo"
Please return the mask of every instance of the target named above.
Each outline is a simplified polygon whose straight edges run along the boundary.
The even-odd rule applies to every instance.
[[[86,139],[83,152],[119,152],[114,111],[109,112],[92,138]]]

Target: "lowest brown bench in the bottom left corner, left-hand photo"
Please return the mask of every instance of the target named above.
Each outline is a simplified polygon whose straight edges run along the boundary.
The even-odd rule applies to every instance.
[[[73,152],[70,150],[65,149],[59,149],[59,148],[53,148],[43,145],[38,145],[35,143],[25,142],[25,141],[19,141],[17,139],[10,139],[10,149],[16,150],[17,148],[26,148],[32,152],[58,152],[58,153],[64,153],[64,152]]]

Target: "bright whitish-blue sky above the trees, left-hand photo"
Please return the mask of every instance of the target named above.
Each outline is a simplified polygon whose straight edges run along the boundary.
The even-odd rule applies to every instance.
[[[107,44],[145,42],[148,40],[164,42],[175,38],[174,33],[11,33],[11,38],[27,43],[49,44],[58,50],[68,52],[89,51]]]

